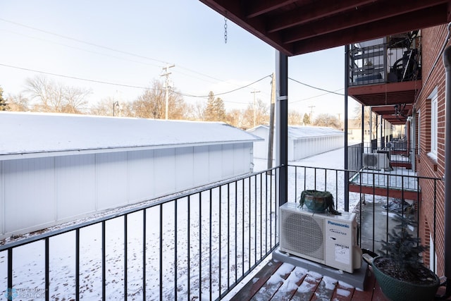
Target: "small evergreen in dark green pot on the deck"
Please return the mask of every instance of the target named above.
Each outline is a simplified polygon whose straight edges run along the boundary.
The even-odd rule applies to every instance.
[[[408,214],[397,214],[398,222],[388,233],[388,241],[382,241],[385,254],[373,259],[374,276],[382,292],[390,300],[432,300],[440,285],[433,271],[424,266],[421,252],[426,248],[409,232],[415,224]]]

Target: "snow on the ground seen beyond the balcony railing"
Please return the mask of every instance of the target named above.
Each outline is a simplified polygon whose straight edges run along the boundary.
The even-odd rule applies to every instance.
[[[343,166],[343,158],[344,149],[336,149],[290,162],[290,165],[340,169]],[[256,159],[254,163],[255,171],[266,168],[265,160]],[[333,192],[338,201],[338,209],[342,210],[344,173],[295,167],[290,167],[288,173],[289,202],[295,202],[304,187],[327,189]],[[162,207],[147,209],[145,218],[144,211],[128,214],[126,256],[125,218],[121,216],[105,221],[107,299],[124,299],[126,276],[128,297],[130,300],[142,300],[144,274],[148,300],[158,299],[160,290],[163,300],[174,300],[175,294],[177,299],[185,300],[188,293],[190,298],[194,299],[218,297],[220,286],[223,291],[228,287],[229,281],[231,284],[236,278],[240,278],[249,266],[257,262],[259,255],[266,252],[269,241],[272,243],[276,241],[275,233],[265,228],[268,226],[265,226],[265,222],[276,223],[274,219],[276,203],[268,208],[265,201],[261,204],[253,202],[260,195],[263,200],[266,199],[266,180],[268,185],[276,187],[276,177],[263,173],[260,178],[246,179],[221,187],[221,191],[216,188],[211,190],[211,194],[210,191],[206,191],[202,195],[192,195],[190,199],[183,197],[178,200],[177,209],[175,209],[175,202],[171,202]],[[272,189],[273,197],[275,193],[275,189]],[[271,199],[270,195],[268,199]],[[358,202],[359,195],[351,193],[350,208]],[[262,223],[262,228],[259,223]],[[211,233],[209,233],[209,225],[211,225]],[[227,229],[230,229],[230,232]],[[101,231],[101,223],[80,229],[80,297],[88,300],[101,298]],[[159,239],[160,237],[162,240]],[[211,247],[209,247],[210,241]],[[73,298],[75,297],[75,232],[50,238],[49,245],[51,299]],[[143,245],[145,245],[145,257],[143,257]],[[125,260],[127,269],[125,269]],[[228,263],[230,263],[230,269],[227,268]],[[6,269],[7,252],[4,251],[0,252],[0,295],[6,293]],[[42,291],[44,288],[44,242],[38,241],[14,249],[13,271],[14,288]],[[208,276],[210,271],[213,275],[211,278]],[[175,281],[177,281],[176,285]]]

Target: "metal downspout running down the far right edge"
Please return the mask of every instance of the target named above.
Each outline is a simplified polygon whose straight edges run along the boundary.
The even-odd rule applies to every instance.
[[[445,297],[451,295],[451,47],[443,51],[445,66]]]

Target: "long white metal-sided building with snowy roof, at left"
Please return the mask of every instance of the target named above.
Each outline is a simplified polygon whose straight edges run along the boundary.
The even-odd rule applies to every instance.
[[[0,239],[252,171],[224,123],[0,113]]]

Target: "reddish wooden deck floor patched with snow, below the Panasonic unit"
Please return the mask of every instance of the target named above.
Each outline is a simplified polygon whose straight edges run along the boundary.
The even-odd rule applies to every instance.
[[[335,279],[323,277],[320,274],[292,266],[292,264],[271,260],[230,300],[388,300],[383,295],[371,270],[368,277],[364,290],[359,290],[347,283],[340,283]]]

